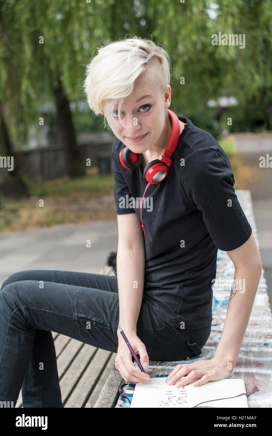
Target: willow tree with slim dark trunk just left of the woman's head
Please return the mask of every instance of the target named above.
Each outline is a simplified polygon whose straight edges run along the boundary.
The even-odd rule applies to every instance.
[[[41,65],[45,62],[41,79],[51,86],[60,137],[67,149],[68,174],[78,176],[83,169],[69,102],[83,98],[85,65],[96,48],[124,37],[129,22],[136,32],[144,29],[132,0],[30,3],[33,13],[27,24],[34,22],[32,35],[36,35],[32,37],[33,57]]]

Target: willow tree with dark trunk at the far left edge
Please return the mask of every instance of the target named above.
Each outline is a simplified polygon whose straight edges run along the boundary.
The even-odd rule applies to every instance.
[[[17,129],[24,117],[21,98],[24,95],[24,63],[22,62],[21,35],[12,31],[13,8],[7,3],[0,8],[0,207],[4,198],[28,196],[28,190],[14,159],[13,142]],[[19,30],[19,29],[18,29]],[[27,54],[25,56],[27,59]],[[11,165],[12,163],[12,165]]]

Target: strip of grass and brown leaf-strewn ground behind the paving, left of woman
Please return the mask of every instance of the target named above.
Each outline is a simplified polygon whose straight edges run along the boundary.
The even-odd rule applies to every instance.
[[[0,208],[0,232],[116,217],[112,174],[97,168],[75,179],[67,176],[34,183],[24,177],[29,198],[5,198]]]

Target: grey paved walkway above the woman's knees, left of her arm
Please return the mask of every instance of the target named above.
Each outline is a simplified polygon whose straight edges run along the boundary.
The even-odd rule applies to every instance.
[[[86,247],[90,240],[91,247]],[[0,234],[0,283],[28,269],[94,272],[117,250],[117,220],[63,224]]]

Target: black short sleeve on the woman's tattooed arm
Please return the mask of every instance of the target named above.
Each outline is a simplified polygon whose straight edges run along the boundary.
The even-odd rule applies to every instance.
[[[203,214],[215,246],[231,251],[243,245],[252,228],[238,201],[228,157],[213,148],[191,153],[184,161],[181,184],[189,201]]]

